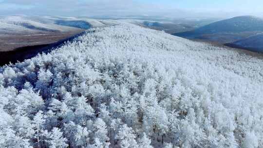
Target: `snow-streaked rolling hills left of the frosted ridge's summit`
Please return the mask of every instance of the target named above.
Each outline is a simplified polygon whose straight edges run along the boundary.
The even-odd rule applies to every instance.
[[[106,26],[102,21],[74,17],[7,16],[0,17],[0,34],[74,32],[80,29]]]

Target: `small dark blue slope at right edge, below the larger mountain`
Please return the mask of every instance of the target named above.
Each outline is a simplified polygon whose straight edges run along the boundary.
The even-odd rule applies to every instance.
[[[232,43],[226,43],[225,45],[263,53],[263,34],[241,39]]]

